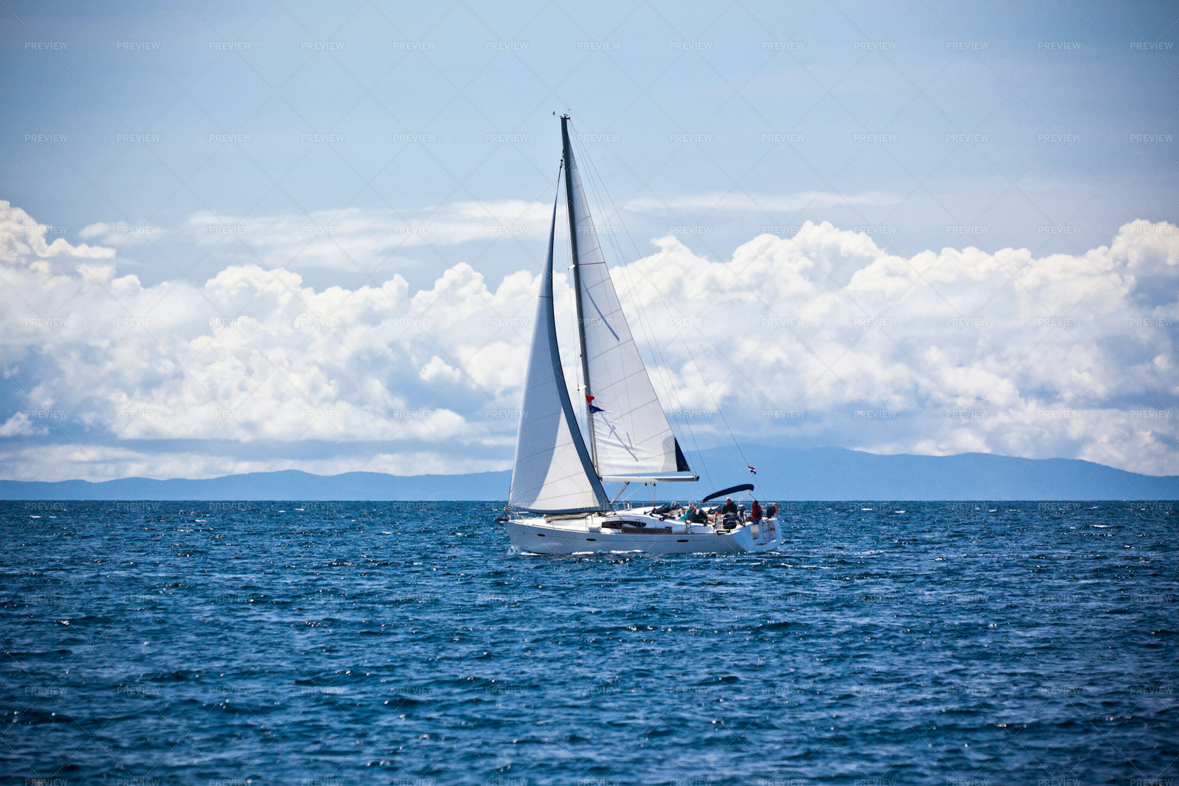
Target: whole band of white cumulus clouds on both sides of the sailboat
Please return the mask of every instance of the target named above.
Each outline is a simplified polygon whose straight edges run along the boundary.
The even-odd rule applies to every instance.
[[[513,207],[518,225],[535,222],[531,204]],[[461,224],[463,209],[447,210]],[[355,218],[341,233],[381,252],[388,238]],[[4,476],[506,467],[535,271],[489,283],[456,264],[416,292],[400,276],[315,291],[290,265],[268,269],[291,251],[291,220],[252,235],[268,264],[145,286],[111,247],[46,243],[0,203]],[[1179,471],[1170,224],[1133,222],[1108,246],[1043,258],[904,258],[826,223],[759,236],[727,260],[673,237],[656,246],[613,276],[689,447],[727,440],[719,407],[743,441]],[[567,288],[558,309],[575,379]]]

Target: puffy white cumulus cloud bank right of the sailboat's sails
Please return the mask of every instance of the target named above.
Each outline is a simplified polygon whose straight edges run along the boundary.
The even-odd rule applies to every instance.
[[[904,258],[825,223],[763,235],[727,262],[657,243],[615,279],[631,283],[631,311],[681,315],[651,326],[689,410],[714,396],[771,442],[1179,471],[1170,224],[1137,220],[1108,246],[1042,258]]]

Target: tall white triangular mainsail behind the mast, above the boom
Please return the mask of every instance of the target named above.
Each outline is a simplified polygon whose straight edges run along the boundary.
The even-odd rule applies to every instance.
[[[602,477],[689,471],[610,278],[573,159],[568,118],[561,118],[561,138],[594,467]]]

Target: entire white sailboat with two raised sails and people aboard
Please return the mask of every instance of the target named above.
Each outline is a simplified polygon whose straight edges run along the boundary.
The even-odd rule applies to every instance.
[[[590,204],[561,117],[561,167],[569,218],[573,293],[581,356],[580,404],[586,437],[561,368],[553,309],[553,244],[560,185],[553,200],[548,255],[541,272],[512,486],[503,521],[512,544],[532,554],[614,551],[764,551],[780,542],[776,519],[740,513],[699,514],[654,504],[658,483],[694,482],[663,405],[647,376],[598,243]],[[588,442],[588,444],[587,444]],[[621,483],[613,498],[605,483]],[[617,504],[632,483],[652,487],[652,504]],[[723,489],[702,500],[753,486]]]

